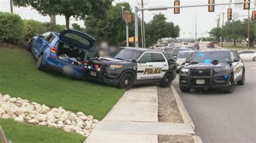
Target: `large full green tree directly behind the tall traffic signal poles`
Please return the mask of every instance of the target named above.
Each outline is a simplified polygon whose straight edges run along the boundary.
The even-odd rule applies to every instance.
[[[93,15],[87,16],[85,20],[86,33],[92,35],[98,42],[108,41],[111,45],[122,46],[122,42],[126,40],[126,24],[123,20],[121,6],[125,7],[124,10],[129,10],[132,18],[134,18],[134,13],[132,13],[129,3],[117,3],[115,6],[110,6],[109,11],[103,18]],[[141,33],[139,32],[139,39],[140,35]],[[133,20],[129,24],[129,37],[132,36],[134,36]]]

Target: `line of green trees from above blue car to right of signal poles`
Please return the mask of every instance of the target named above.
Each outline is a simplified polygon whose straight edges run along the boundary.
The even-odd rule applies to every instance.
[[[121,6],[129,10],[132,18],[134,13],[127,2],[112,5],[113,0],[13,0],[16,6],[31,6],[43,16],[60,15],[66,20],[66,28],[70,28],[70,17],[84,20],[85,28],[72,24],[71,28],[92,35],[98,42],[108,41],[110,44],[122,46],[126,40],[126,24],[123,21]],[[156,44],[161,38],[179,37],[180,27],[172,22],[166,22],[163,14],[154,15],[149,23],[145,23],[146,47]],[[140,27],[140,18],[138,20]],[[141,45],[141,31],[139,31],[139,44]],[[134,22],[129,24],[129,37],[134,36]],[[130,44],[134,46],[134,44]]]

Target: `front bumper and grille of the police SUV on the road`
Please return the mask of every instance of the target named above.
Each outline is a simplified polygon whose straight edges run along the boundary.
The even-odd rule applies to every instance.
[[[188,71],[191,72],[191,71]],[[200,88],[213,88],[213,89],[226,89],[228,86],[227,83],[227,71],[214,73],[212,70],[208,76],[191,76],[187,73],[180,73],[179,77],[179,86],[186,87],[191,89],[200,89]],[[204,83],[200,84],[198,82],[204,81]]]

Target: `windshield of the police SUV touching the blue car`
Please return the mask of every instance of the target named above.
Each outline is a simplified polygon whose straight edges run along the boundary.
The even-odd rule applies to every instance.
[[[132,48],[119,48],[111,57],[114,59],[129,61],[132,59],[138,59],[142,51]]]

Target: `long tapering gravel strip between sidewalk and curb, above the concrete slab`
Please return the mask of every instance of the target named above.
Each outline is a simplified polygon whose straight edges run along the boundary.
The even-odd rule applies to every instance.
[[[158,121],[166,123],[184,123],[171,88],[157,87]]]

